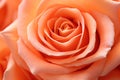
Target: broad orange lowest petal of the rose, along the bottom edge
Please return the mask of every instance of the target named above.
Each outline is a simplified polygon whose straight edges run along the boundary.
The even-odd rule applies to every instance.
[[[104,62],[104,59],[97,61],[88,69],[72,72],[69,74],[52,75],[41,73],[38,76],[41,76],[45,80],[97,80],[97,77],[100,75],[102,68],[104,67]]]

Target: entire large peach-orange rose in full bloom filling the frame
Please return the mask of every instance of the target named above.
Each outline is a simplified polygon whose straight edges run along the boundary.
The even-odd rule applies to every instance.
[[[105,79],[120,64],[119,8],[108,0],[24,0],[13,32],[2,33],[13,61],[4,80]]]

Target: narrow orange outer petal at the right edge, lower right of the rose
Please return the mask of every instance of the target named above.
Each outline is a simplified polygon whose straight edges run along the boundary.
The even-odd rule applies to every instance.
[[[120,65],[120,42],[117,43],[109,52],[102,75],[108,74],[114,68]]]

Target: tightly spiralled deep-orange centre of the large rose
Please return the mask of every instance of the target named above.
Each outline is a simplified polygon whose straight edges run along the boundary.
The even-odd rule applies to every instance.
[[[89,33],[79,9],[59,8],[55,11],[48,10],[43,16],[46,19],[45,22],[39,22],[46,23],[46,25],[39,25],[39,30],[41,30],[39,36],[47,47],[61,52],[79,51],[87,47]],[[43,33],[40,32],[43,32],[44,35],[41,35]]]

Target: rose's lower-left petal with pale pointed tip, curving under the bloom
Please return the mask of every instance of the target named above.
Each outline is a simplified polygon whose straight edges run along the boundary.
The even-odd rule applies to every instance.
[[[38,52],[34,51],[33,49],[29,49],[21,40],[18,41],[18,53],[26,62],[29,69],[34,75],[39,73],[61,74],[69,73],[75,70],[74,68],[65,68],[56,64],[46,62],[41,55],[33,54]]]

